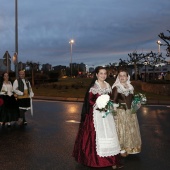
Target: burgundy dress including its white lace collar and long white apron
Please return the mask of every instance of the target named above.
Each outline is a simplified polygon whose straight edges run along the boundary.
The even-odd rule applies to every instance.
[[[89,113],[80,123],[73,150],[75,160],[90,167],[119,165],[120,145],[113,116],[102,118],[102,113],[96,110],[96,99],[111,93],[110,85],[105,83],[107,88],[101,88],[96,80],[89,90]]]

